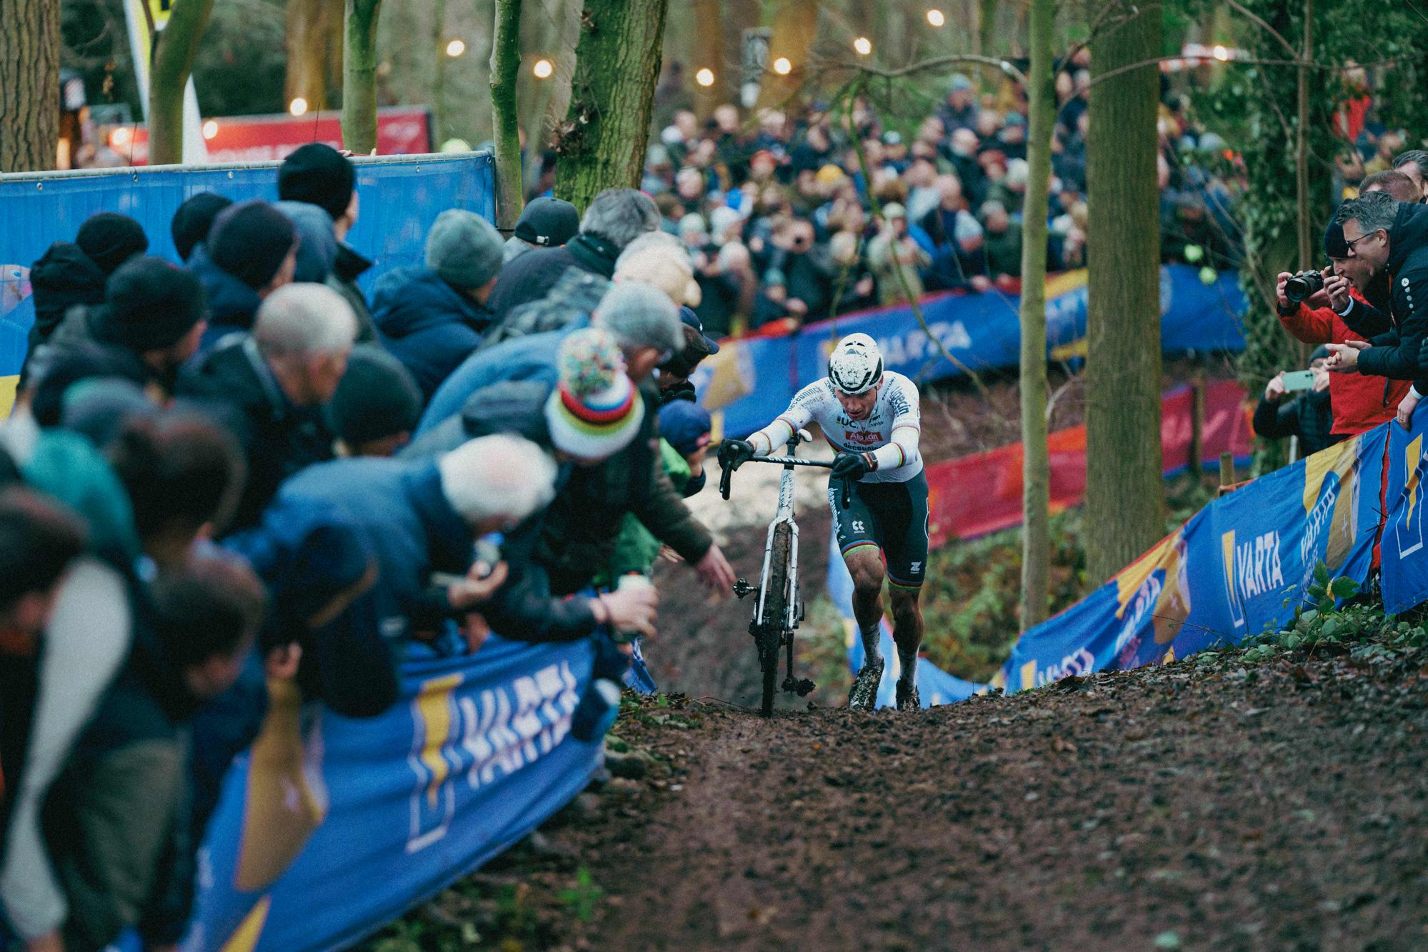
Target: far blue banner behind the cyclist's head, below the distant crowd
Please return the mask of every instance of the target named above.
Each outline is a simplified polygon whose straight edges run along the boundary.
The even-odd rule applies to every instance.
[[[1021,347],[1020,300],[998,291],[934,294],[921,301],[928,330],[972,371],[1015,367]],[[1161,268],[1161,345],[1168,353],[1244,348],[1238,314],[1244,294],[1234,274],[1212,284],[1188,265]],[[948,361],[905,305],[858,311],[800,328],[785,337],[730,341],[694,374],[700,398],[721,411],[727,437],[745,437],[777,417],[798,393],[828,371],[833,344],[853,333],[871,334],[888,370],[918,383],[964,374]],[[1085,271],[1047,281],[1047,355],[1085,354]]]

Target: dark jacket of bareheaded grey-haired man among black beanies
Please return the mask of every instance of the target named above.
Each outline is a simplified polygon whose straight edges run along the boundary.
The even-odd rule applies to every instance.
[[[247,458],[233,530],[257,525],[287,477],[333,458],[321,407],[296,407],[247,334],[224,341],[178,377],[178,394],[208,407],[230,427]]]

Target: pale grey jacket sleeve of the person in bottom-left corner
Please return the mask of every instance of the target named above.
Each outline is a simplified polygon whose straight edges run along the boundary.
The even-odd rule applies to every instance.
[[[123,577],[94,558],[66,575],[31,667],[33,698],[20,764],[4,765],[4,851],[0,854],[0,903],[6,923],[21,939],[59,929],[69,915],[64,888],[50,862],[41,806],[76,738],[129,655],[129,591]],[[11,729],[14,675],[23,659],[0,655],[4,729]]]

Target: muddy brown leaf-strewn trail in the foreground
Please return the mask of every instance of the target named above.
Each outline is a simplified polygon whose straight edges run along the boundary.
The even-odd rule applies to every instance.
[[[614,738],[621,776],[378,948],[1428,948],[1425,649],[917,714],[630,698]]]

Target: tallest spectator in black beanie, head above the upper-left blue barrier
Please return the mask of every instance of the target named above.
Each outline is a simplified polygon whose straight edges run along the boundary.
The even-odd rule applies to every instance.
[[[277,170],[277,196],[283,201],[314,204],[331,218],[336,251],[326,283],[343,297],[357,317],[357,341],[377,340],[377,328],[367,308],[367,298],[357,278],[371,261],[347,244],[347,234],[357,224],[361,203],[357,198],[357,170],[350,158],[324,143],[308,143],[288,153]]]

